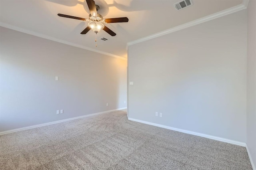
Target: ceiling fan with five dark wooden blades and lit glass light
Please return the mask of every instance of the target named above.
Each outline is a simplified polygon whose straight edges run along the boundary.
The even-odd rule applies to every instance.
[[[76,17],[76,16],[69,16],[69,15],[65,15],[65,14],[58,14],[58,16],[65,17],[65,18],[89,21],[88,26],[80,34],[86,34],[88,31],[90,31],[92,29],[92,31],[95,32],[96,34],[100,30],[104,30],[111,36],[116,36],[116,33],[114,33],[108,27],[104,26],[104,24],[102,24],[102,23],[117,23],[117,22],[128,22],[129,21],[127,17],[103,19],[103,17],[97,13],[97,11],[100,9],[100,7],[98,5],[95,5],[94,0],[86,0],[86,2],[88,5],[88,8],[90,10],[89,19],[80,18],[80,17]]]

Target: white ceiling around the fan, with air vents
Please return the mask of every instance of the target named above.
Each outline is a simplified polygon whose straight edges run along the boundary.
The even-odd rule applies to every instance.
[[[95,33],[80,32],[88,22],[62,18],[58,13],[88,18],[85,0],[0,0],[0,22],[28,30],[50,39],[58,39],[83,47],[127,57],[126,44],[175,26],[242,4],[242,0],[192,0],[194,5],[177,11],[173,4],[179,0],[95,0],[104,18],[128,17],[127,23],[106,24],[117,35],[101,30],[98,47]],[[107,38],[107,41],[99,40]]]

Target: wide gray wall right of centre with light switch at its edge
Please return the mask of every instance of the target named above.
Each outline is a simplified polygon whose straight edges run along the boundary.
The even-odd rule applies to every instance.
[[[129,118],[246,142],[246,18],[242,10],[130,45]]]

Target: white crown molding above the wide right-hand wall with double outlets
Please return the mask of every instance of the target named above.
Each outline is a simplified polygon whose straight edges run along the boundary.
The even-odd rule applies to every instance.
[[[225,15],[228,15],[228,14],[232,14],[234,12],[238,12],[240,10],[244,10],[246,9],[246,1],[248,0],[243,0],[243,3],[240,4],[240,5],[237,5],[237,6],[234,6],[232,8],[228,8],[226,10],[222,10],[220,12],[216,12],[214,14],[211,14],[211,15],[208,15],[208,16],[205,16],[205,17],[202,17],[202,18],[199,18],[197,20],[194,20],[194,21],[191,21],[191,22],[187,22],[185,24],[182,24],[182,25],[179,25],[179,26],[176,26],[176,27],[173,27],[173,28],[170,28],[168,30],[164,30],[162,32],[158,32],[156,34],[152,34],[150,36],[146,36],[144,38],[140,38],[138,40],[134,40],[132,42],[128,42],[127,43],[127,46],[130,46],[130,45],[133,45],[133,44],[136,44],[136,43],[140,43],[140,42],[144,42],[144,41],[147,41],[147,40],[150,40],[150,39],[153,39],[153,38],[156,38],[156,37],[160,37],[160,36],[164,36],[166,34],[170,34],[172,32],[176,32],[176,31],[179,31],[179,30],[183,30],[185,28],[188,28],[188,27],[191,27],[191,26],[195,26],[197,24],[201,24],[203,22],[207,22],[207,21],[210,21],[210,20],[213,20],[213,19],[216,19],[216,18],[220,18],[222,16],[225,16]],[[247,2],[248,4],[248,2]],[[128,47],[126,47],[128,49]]]

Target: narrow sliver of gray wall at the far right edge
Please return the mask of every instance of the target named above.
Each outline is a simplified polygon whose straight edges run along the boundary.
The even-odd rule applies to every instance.
[[[256,166],[256,1],[248,4],[247,147]],[[256,168],[256,167],[255,167]]]

